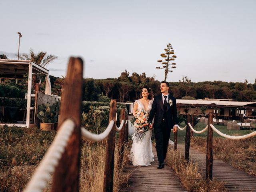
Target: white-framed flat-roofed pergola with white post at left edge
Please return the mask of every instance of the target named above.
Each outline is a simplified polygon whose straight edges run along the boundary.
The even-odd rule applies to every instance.
[[[0,60],[0,78],[23,79],[24,74],[28,74],[28,94],[27,94],[27,115],[26,126],[30,124],[30,106],[32,91],[32,74],[40,73],[48,76],[49,70],[32,62],[31,60]]]

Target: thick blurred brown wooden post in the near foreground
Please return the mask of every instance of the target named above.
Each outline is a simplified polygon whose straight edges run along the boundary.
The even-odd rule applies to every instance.
[[[54,172],[53,192],[79,191],[82,83],[83,62],[80,58],[71,57],[68,63],[65,79],[66,90],[61,101],[61,116],[58,124],[61,125],[67,118],[72,118],[76,126]]]

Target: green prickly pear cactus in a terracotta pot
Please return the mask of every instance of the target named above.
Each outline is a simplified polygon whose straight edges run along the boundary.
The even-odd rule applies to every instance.
[[[40,111],[37,114],[37,117],[42,121],[40,122],[40,129],[46,131],[53,130],[54,123],[58,121],[58,112],[56,112],[56,104],[42,104],[38,106],[38,109]]]

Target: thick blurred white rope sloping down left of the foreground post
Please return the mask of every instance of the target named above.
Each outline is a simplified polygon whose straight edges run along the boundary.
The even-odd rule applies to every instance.
[[[75,123],[72,120],[68,119],[63,122],[24,192],[41,192],[47,186],[74,128]]]

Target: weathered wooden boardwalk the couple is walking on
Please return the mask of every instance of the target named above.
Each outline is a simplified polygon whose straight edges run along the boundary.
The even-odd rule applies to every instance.
[[[156,156],[156,148],[152,146],[154,154],[154,162],[151,166],[132,166],[129,164],[126,168],[128,172],[132,172],[128,182],[125,183],[120,191],[122,192],[185,192],[180,179],[174,171],[167,165],[163,169],[157,169],[158,159]]]

